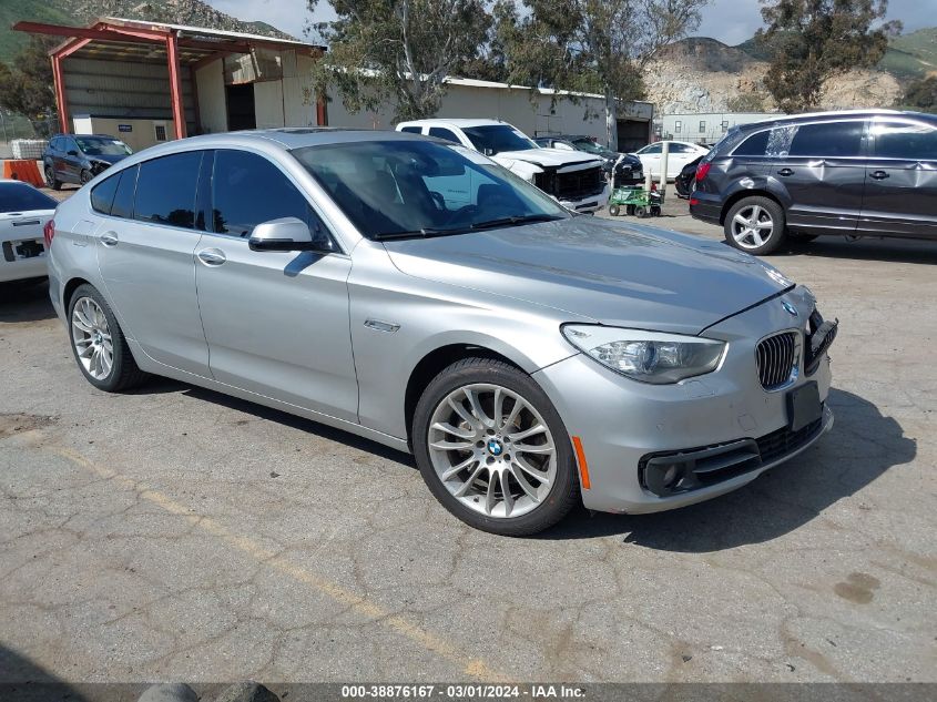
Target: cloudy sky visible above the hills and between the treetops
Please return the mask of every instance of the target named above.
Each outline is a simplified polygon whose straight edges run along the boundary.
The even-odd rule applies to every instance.
[[[261,20],[285,32],[303,38],[309,19],[334,17],[327,0],[320,0],[315,16],[306,9],[306,0],[207,0],[208,4],[242,20]],[[888,19],[902,20],[905,31],[937,24],[937,0],[890,0]],[[703,23],[694,34],[712,37],[727,44],[737,44],[762,26],[758,0],[711,0],[703,11]]]

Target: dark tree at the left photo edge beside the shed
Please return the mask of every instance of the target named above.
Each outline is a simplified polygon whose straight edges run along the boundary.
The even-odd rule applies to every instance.
[[[55,114],[55,92],[49,50],[54,40],[30,37],[10,65],[0,62],[0,108],[23,114],[40,134],[48,134]]]

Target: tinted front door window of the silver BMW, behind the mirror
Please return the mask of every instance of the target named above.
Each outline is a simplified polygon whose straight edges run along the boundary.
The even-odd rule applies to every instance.
[[[246,151],[215,152],[212,177],[214,231],[249,236],[255,226],[281,217],[298,217],[315,232],[309,203],[273,163]]]

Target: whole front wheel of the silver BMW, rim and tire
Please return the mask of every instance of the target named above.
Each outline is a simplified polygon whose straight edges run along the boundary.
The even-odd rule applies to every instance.
[[[537,533],[579,499],[559,414],[530,376],[506,363],[469,358],[442,370],[417,404],[413,440],[430,491],[477,529]]]

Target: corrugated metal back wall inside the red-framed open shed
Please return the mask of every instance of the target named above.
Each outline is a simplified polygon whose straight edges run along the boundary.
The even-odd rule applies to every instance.
[[[172,120],[169,67],[69,58],[62,62],[65,98],[72,115]],[[182,71],[182,95],[190,133],[195,126],[195,103],[187,70]]]

